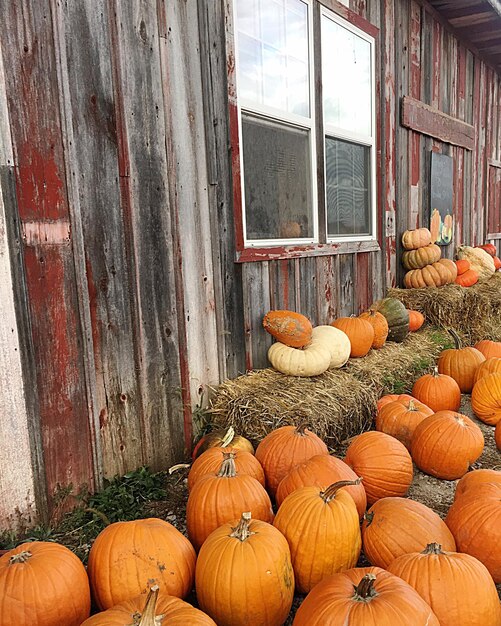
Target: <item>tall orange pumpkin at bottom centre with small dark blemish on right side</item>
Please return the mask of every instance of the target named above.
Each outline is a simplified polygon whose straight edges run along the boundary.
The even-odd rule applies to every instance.
[[[294,598],[287,540],[247,512],[240,522],[223,524],[200,550],[196,591],[200,608],[218,626],[283,624]]]

